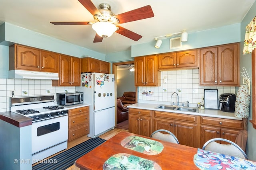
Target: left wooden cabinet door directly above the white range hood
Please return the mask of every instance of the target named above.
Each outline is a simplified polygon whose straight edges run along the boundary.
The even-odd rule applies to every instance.
[[[40,50],[16,46],[16,68],[22,70],[40,70]]]

